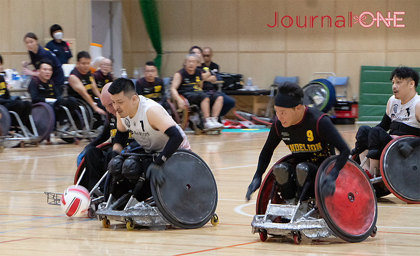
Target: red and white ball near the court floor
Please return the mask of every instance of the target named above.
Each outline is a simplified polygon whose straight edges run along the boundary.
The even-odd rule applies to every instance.
[[[67,216],[77,217],[86,213],[91,204],[91,196],[86,188],[72,185],[64,190],[60,204]]]

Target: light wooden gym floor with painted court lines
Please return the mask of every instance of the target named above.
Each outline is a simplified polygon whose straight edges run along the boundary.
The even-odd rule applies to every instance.
[[[357,125],[338,129],[350,148]],[[87,144],[7,148],[0,154],[0,254],[6,255],[419,255],[420,205],[393,195],[378,199],[378,234],[361,243],[339,238],[271,237],[261,242],[251,233],[255,193],[245,194],[268,132],[188,135],[192,150],[210,166],[217,182],[219,224],[184,230],[68,218],[60,206],[48,205],[44,191],[60,192],[73,184],[76,157]],[[289,154],[281,143],[272,164]],[[272,165],[271,164],[271,165]],[[270,165],[270,166],[271,166]]]

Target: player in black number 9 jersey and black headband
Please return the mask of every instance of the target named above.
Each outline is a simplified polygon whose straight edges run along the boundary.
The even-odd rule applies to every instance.
[[[297,84],[284,82],[279,86],[274,99],[276,118],[259,155],[257,170],[248,187],[247,200],[260,187],[262,175],[281,141],[288,146],[297,163],[296,168],[288,163],[280,163],[273,168],[280,195],[286,204],[293,204],[295,198],[303,202],[315,196],[318,167],[329,156],[335,155],[334,148],[337,148],[340,155],[321,185],[325,196],[334,194],[335,180],[345,165],[350,150],[330,118],[303,105],[302,99],[303,90]]]

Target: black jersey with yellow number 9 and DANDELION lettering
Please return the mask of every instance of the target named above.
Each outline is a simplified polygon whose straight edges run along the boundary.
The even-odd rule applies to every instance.
[[[300,162],[311,162],[320,165],[331,155],[335,155],[334,147],[319,135],[319,120],[325,114],[306,108],[302,121],[289,127],[283,127],[276,118],[276,133],[288,146],[293,157]]]

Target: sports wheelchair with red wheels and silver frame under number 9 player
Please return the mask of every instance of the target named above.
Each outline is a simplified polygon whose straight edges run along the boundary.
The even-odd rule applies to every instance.
[[[261,241],[266,241],[268,234],[292,234],[295,244],[302,241],[302,233],[312,239],[335,236],[347,242],[374,237],[378,205],[367,175],[355,161],[348,159],[340,170],[334,195],[324,197],[321,193],[320,185],[336,159],[337,156],[331,156],[318,168],[315,198],[310,198],[307,205],[301,201],[284,205],[276,184],[273,168],[282,162],[296,167],[292,155],[274,164],[259,189],[252,233],[259,233]]]

